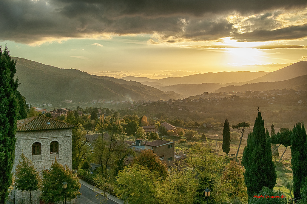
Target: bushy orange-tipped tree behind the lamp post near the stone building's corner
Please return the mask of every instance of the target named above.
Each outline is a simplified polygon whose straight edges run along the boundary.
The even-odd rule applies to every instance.
[[[43,171],[41,187],[41,199],[46,203],[72,200],[80,195],[81,184],[77,174],[66,165],[63,167],[57,160],[52,163],[50,171]],[[63,188],[63,182],[67,182],[67,188]]]

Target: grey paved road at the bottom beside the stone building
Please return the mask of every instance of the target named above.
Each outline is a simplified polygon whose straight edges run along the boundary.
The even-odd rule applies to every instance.
[[[80,204],[100,204],[105,203],[104,197],[102,195],[99,195],[98,193],[94,192],[92,189],[88,188],[87,186],[84,186],[81,184],[80,193],[82,195],[77,197],[76,203]],[[107,199],[107,204],[117,204],[117,202]]]

